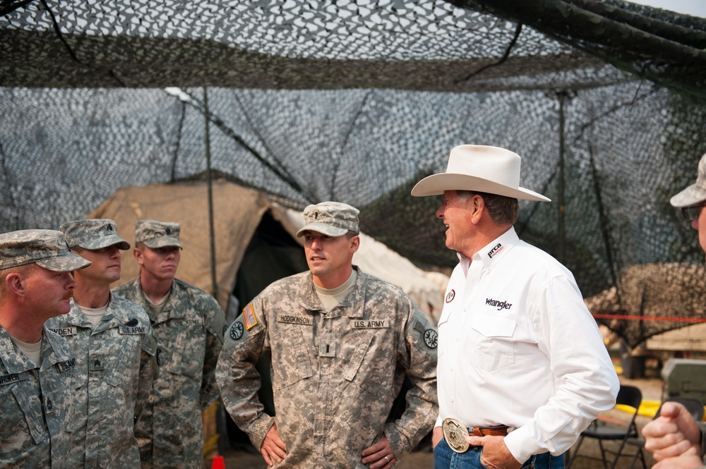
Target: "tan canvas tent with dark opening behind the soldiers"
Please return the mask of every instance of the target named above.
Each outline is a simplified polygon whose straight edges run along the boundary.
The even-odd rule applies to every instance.
[[[138,219],[177,221],[181,224],[181,263],[177,276],[215,297],[233,319],[265,286],[307,269],[301,239],[301,212],[270,201],[257,190],[220,179],[213,190],[213,245],[215,281],[210,254],[208,184],[181,181],[126,187],[91,212],[89,218],[116,221],[120,236],[134,242]],[[426,273],[361,233],[361,248],[354,263],[364,272],[400,286],[436,323],[441,312],[447,278]],[[121,283],[134,279],[139,266],[130,253],[123,256]]]

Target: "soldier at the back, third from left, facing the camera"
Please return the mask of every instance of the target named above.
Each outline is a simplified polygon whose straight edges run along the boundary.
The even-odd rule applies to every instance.
[[[201,468],[201,413],[218,398],[215,367],[225,316],[208,293],[174,278],[180,231],[178,223],[138,220],[133,254],[140,276],[114,289],[145,308],[162,351],[152,391],[152,444],[140,444],[143,468]]]

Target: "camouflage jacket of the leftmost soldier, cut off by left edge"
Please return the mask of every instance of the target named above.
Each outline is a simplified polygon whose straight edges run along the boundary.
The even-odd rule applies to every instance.
[[[76,358],[47,329],[40,353],[37,368],[0,326],[0,468],[73,468],[66,427],[73,417]]]

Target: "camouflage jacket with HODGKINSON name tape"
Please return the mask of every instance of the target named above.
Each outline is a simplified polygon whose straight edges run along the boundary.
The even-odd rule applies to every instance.
[[[324,313],[311,273],[289,276],[265,288],[225,335],[221,399],[258,449],[277,421],[287,446],[279,467],[365,468],[361,451],[383,432],[400,458],[433,427],[436,330],[396,286],[358,270],[353,290]],[[257,398],[255,364],[266,351],[276,419]],[[405,374],[407,408],[386,422]]]

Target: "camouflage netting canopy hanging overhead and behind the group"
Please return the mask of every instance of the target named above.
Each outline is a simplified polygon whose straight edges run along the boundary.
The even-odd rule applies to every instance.
[[[706,152],[705,48],[703,18],[617,0],[0,0],[0,230],[212,169],[289,207],[355,205],[451,267],[439,200],[409,190],[453,146],[498,145],[554,201],[520,205],[520,236],[638,315],[631,267],[703,262],[669,197]],[[688,324],[601,320],[633,346]]]

